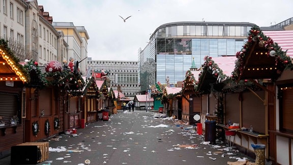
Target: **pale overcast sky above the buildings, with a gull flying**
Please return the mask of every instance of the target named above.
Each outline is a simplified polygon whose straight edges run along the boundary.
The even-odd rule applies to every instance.
[[[292,0],[38,0],[54,22],[84,26],[93,60],[138,60],[150,34],[180,21],[250,22],[270,26],[293,17]],[[122,16],[127,18],[123,21]]]

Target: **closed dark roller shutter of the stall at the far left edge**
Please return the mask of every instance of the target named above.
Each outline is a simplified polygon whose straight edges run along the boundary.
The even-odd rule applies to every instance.
[[[17,94],[0,93],[1,121],[10,123],[11,118],[17,114],[18,102]]]

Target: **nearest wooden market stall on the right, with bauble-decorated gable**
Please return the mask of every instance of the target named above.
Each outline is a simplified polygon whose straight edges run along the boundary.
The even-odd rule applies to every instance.
[[[282,42],[282,40],[286,38],[284,47],[291,49],[288,45],[293,45],[293,42],[287,39],[293,36],[291,32],[283,31],[273,33],[278,35],[270,35],[268,37],[260,31],[258,26],[254,26],[250,30],[248,41],[243,46],[243,49],[236,54],[237,61],[235,71],[232,72],[232,78],[235,79],[236,82],[240,82],[241,80],[252,82],[255,87],[262,90],[258,92],[248,88],[250,93],[254,95],[254,99],[248,96],[247,98],[250,98],[251,101],[247,103],[246,108],[243,107],[240,109],[242,114],[244,114],[241,121],[242,126],[247,127],[252,125],[253,130],[256,130],[253,132],[260,132],[268,136],[266,141],[259,141],[259,136],[257,136],[254,141],[254,143],[266,145],[267,159],[280,164],[292,164],[292,155],[289,153],[291,153],[292,150],[292,135],[290,131],[293,130],[293,126],[291,124],[292,122],[288,120],[292,117],[292,114],[289,113],[285,116],[282,114],[286,112],[287,108],[290,108],[290,104],[282,102],[283,98],[289,98],[288,95],[282,97],[282,89],[284,88],[283,85],[289,87],[287,83],[290,78],[286,78],[287,80],[285,81],[283,81],[284,79],[280,79],[278,92],[276,92],[276,80],[286,69],[292,70],[293,64],[292,59],[287,54],[287,50],[283,51],[273,39]],[[268,32],[268,34],[272,34],[272,32]],[[292,50],[290,50],[290,52],[292,52]],[[291,53],[290,56],[292,55]],[[284,75],[287,75],[287,73],[286,71]],[[241,101],[245,101],[244,94],[245,93],[241,95],[243,96],[241,97]],[[256,105],[254,104],[255,100],[259,102]],[[251,110],[249,110],[249,106]],[[262,109],[262,111],[260,112],[259,109]],[[277,112],[276,109],[278,109],[279,112]],[[250,137],[255,139],[253,135],[249,134],[248,141]],[[283,139],[284,137],[287,141]],[[280,149],[280,146],[282,146],[282,149]],[[251,146],[248,145],[248,147],[249,150],[252,151]]]

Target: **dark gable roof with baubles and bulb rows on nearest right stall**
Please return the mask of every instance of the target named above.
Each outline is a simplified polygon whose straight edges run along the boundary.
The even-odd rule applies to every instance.
[[[285,36],[281,37],[286,35],[286,32],[283,34],[267,32],[267,34],[274,35],[273,37],[279,41],[283,40],[284,46],[287,44],[286,42],[290,42]],[[251,28],[248,41],[236,54],[237,61],[232,77],[237,82],[241,79],[275,80],[284,69],[293,68],[291,58],[287,55],[286,50],[283,50],[273,37],[266,36],[258,26]]]

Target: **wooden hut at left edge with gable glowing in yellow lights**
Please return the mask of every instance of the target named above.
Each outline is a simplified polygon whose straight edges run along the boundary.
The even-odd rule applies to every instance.
[[[26,71],[0,40],[0,155],[7,156],[11,146],[24,142]],[[1,157],[1,156],[0,156]]]

